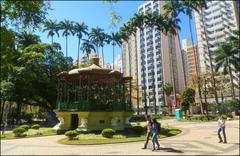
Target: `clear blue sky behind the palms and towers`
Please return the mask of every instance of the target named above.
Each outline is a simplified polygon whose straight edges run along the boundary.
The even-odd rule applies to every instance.
[[[110,33],[111,31],[117,31],[120,26],[127,22],[132,15],[137,12],[139,5],[144,3],[144,1],[120,1],[115,5],[103,4],[101,1],[51,1],[51,7],[53,10],[50,10],[47,16],[48,19],[62,21],[68,19],[75,22],[84,22],[89,26],[89,29],[92,27],[101,27],[105,32]],[[121,15],[122,21],[114,29],[109,28],[110,23],[110,8],[113,9]],[[180,15],[181,23],[181,32],[180,38],[189,38],[190,32],[188,26],[188,18],[185,15]],[[193,25],[193,24],[192,24]],[[193,28],[194,31],[194,28]],[[195,33],[195,31],[194,31]],[[38,32],[42,42],[51,43],[51,38],[47,38],[47,32]],[[195,35],[194,35],[195,40]],[[65,38],[62,37],[60,31],[60,37],[54,36],[54,42],[58,42],[62,46],[62,50],[65,54]],[[77,58],[77,37],[71,36],[68,39],[68,55],[71,56],[74,60]],[[112,47],[105,46],[105,62],[112,62]],[[121,49],[116,48],[116,56],[120,54]],[[82,54],[81,54],[82,55]]]

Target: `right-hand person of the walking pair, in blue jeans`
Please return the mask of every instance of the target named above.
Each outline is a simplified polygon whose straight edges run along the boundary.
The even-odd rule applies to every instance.
[[[152,119],[152,142],[153,142],[153,149],[152,151],[156,150],[155,144],[157,145],[157,150],[160,150],[160,145],[158,143],[158,134],[159,134],[159,123],[157,120],[154,118]]]

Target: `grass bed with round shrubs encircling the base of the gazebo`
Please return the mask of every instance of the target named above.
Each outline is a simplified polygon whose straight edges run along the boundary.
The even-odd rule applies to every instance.
[[[161,138],[166,138],[170,136],[175,136],[181,133],[181,130],[175,127],[165,127],[162,126],[162,134],[160,135]],[[69,140],[68,138],[64,138],[59,140],[58,142],[61,144],[68,144],[68,145],[96,145],[96,144],[113,144],[113,143],[125,143],[125,142],[137,142],[137,141],[144,141],[146,139],[146,134],[143,135],[136,135],[129,133],[128,130],[124,131],[117,131],[116,135],[113,138],[104,138],[99,133],[88,133],[88,134],[79,134],[77,139]]]

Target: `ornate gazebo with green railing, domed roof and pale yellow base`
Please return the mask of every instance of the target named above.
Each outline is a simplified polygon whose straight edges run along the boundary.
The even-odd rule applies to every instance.
[[[119,71],[101,68],[99,58],[93,64],[59,73],[57,130],[116,130],[129,126],[132,115],[131,77]]]

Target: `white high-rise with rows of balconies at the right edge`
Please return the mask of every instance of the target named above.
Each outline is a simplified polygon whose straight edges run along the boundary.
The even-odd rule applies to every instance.
[[[214,65],[213,51],[217,49],[218,43],[226,42],[233,30],[239,30],[239,1],[207,1],[207,9],[201,13],[194,12],[194,15],[199,70],[210,71],[209,52]],[[238,85],[239,78],[235,72],[233,75],[234,83]]]

